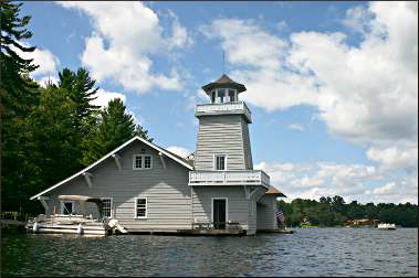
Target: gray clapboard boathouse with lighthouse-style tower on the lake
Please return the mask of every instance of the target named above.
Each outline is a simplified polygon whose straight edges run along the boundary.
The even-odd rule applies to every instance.
[[[252,116],[239,100],[245,86],[222,75],[202,89],[208,103],[196,106],[193,158],[134,137],[31,200],[39,200],[49,215],[78,210],[77,203],[59,195],[101,197],[104,214],[128,232],[253,235],[276,228],[276,197],[284,194],[265,172],[253,169]]]

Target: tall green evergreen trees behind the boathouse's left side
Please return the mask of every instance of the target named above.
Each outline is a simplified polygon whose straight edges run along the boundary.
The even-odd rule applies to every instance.
[[[92,104],[96,82],[85,68],[63,68],[59,82],[40,85],[30,77],[39,65],[19,53],[32,53],[23,40],[31,17],[22,3],[1,1],[1,210],[35,214],[29,197],[82,170],[135,135],[147,140],[124,103]]]

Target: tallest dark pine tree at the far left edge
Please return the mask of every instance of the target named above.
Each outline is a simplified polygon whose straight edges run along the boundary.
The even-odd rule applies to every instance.
[[[28,160],[33,145],[28,115],[39,104],[39,86],[29,78],[38,66],[19,52],[33,52],[21,40],[32,33],[25,29],[30,17],[20,17],[22,4],[0,2],[0,126],[1,126],[1,206],[20,211],[28,203],[24,189],[35,182],[38,167]]]

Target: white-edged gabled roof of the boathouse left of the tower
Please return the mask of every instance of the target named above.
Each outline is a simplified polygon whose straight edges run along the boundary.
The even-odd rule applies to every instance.
[[[133,137],[132,139],[129,139],[128,141],[126,141],[125,143],[121,145],[118,148],[116,148],[115,150],[111,151],[109,153],[107,153],[106,156],[104,156],[103,158],[101,158],[99,160],[97,160],[96,162],[94,162],[93,164],[84,168],[83,170],[81,170],[80,172],[73,174],[72,177],[70,177],[70,178],[67,178],[67,179],[65,179],[65,180],[63,180],[63,181],[61,181],[61,182],[52,185],[51,188],[42,191],[41,193],[38,193],[36,195],[31,196],[30,200],[34,200],[34,199],[36,199],[39,196],[42,196],[43,194],[45,194],[45,193],[48,193],[48,192],[50,192],[50,191],[59,188],[60,185],[62,185],[62,184],[64,184],[64,183],[66,183],[66,182],[69,182],[71,180],[73,180],[75,178],[77,178],[78,175],[87,172],[88,170],[91,170],[95,165],[99,164],[101,162],[103,162],[104,160],[106,160],[107,158],[109,158],[112,154],[117,153],[118,151],[121,151],[122,149],[124,149],[125,147],[127,147],[128,145],[130,145],[132,142],[134,142],[136,140],[139,140],[140,142],[144,142],[145,145],[149,146],[150,148],[155,149],[156,151],[159,151],[159,152],[164,153],[165,156],[171,158],[172,160],[175,160],[179,164],[188,168],[189,170],[193,170],[193,167],[190,165],[187,162],[186,159],[182,159],[179,156],[176,156],[175,153],[172,153],[172,152],[170,152],[168,150],[165,150],[164,148],[158,147],[157,145],[154,145],[154,143],[147,141],[146,139],[144,139],[144,138],[139,137],[139,136],[136,136],[136,137]]]

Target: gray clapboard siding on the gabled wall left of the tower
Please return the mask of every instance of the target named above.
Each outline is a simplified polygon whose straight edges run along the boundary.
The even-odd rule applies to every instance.
[[[153,169],[133,170],[133,154],[153,156]],[[81,194],[95,197],[113,197],[115,217],[130,232],[147,229],[185,229],[191,226],[191,199],[188,186],[189,170],[165,157],[164,169],[156,150],[135,141],[121,151],[122,170],[113,158],[106,159],[92,172],[93,188],[90,189],[84,177],[51,191],[50,213],[53,206],[60,210],[57,195]],[[135,197],[147,197],[147,218],[135,218]],[[56,211],[59,212],[59,211]]]

